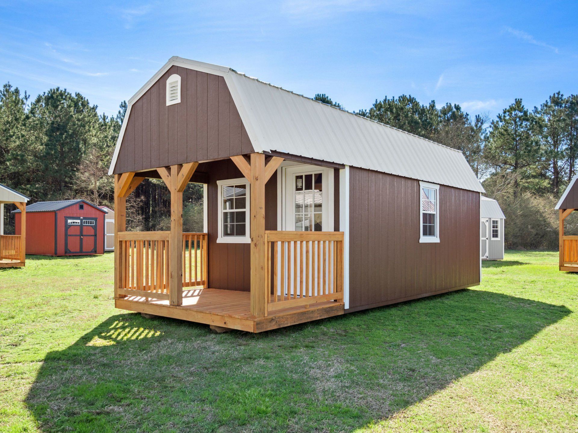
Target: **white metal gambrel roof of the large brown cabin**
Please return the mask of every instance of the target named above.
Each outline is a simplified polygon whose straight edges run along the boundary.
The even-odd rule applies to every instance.
[[[129,100],[127,117],[132,103],[172,65],[224,77],[257,152],[279,151],[484,192],[458,150],[272,86],[224,66],[172,57]],[[124,128],[109,173],[116,164],[123,134]]]

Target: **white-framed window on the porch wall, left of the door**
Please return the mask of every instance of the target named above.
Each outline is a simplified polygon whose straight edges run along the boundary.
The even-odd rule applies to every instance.
[[[218,243],[250,243],[250,183],[240,179],[217,180]]]

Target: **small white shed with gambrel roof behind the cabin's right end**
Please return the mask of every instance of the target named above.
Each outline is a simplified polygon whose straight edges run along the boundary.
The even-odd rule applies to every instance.
[[[502,260],[506,217],[497,201],[483,195],[480,198],[481,260]]]

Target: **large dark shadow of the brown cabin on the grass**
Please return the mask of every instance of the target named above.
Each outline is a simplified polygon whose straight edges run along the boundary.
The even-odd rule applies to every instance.
[[[351,431],[569,313],[462,290],[257,335],[117,314],[49,353],[26,404],[43,431]]]

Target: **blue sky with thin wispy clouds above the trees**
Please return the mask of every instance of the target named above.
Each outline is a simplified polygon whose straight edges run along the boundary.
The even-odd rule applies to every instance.
[[[494,116],[577,93],[578,2],[0,0],[0,82],[114,114],[172,55],[347,110],[385,95]]]

